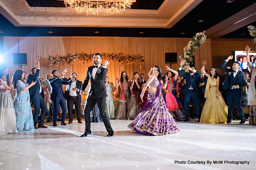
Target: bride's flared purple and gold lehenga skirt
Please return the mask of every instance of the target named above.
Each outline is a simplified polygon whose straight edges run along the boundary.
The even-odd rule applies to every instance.
[[[180,131],[171,113],[168,111],[162,94],[151,91],[148,93],[147,104],[133,122],[128,125],[128,128],[136,133],[156,136]]]

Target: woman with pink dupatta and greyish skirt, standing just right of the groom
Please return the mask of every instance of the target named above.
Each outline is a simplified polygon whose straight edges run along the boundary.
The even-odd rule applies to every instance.
[[[119,100],[116,108],[116,119],[126,119],[126,113],[130,107],[130,91],[129,79],[126,72],[121,73],[121,78],[118,80],[116,87],[118,88]]]

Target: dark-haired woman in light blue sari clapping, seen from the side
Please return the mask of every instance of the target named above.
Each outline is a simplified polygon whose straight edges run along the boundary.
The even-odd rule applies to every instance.
[[[33,114],[30,106],[29,88],[34,86],[36,82],[30,85],[24,81],[24,72],[20,69],[14,71],[13,87],[16,89],[14,100],[14,110],[16,115],[16,128],[19,132],[35,130]]]

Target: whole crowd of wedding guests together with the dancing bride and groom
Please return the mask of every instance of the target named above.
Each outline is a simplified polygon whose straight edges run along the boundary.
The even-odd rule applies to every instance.
[[[200,123],[232,123],[232,120],[236,120],[234,117],[234,104],[236,104],[241,119],[240,124],[245,123],[244,114],[249,113],[249,124],[256,126],[256,58],[253,55],[249,56],[249,51],[247,46],[246,56],[240,57],[238,62],[233,62],[232,68],[225,67],[226,63],[233,59],[233,56],[229,56],[221,64],[225,72],[223,76],[215,67],[207,73],[206,61],[202,63],[200,71],[194,66],[187,66],[188,73],[182,73],[185,61],[181,60],[177,71],[166,66],[166,76],[158,66],[151,68],[146,77],[144,73],[134,72],[131,80],[123,71],[120,79],[117,78],[115,86],[106,76],[106,66],[109,62],[104,61],[104,66],[100,64],[102,59],[99,53],[94,55],[94,59],[96,58],[95,61],[93,60],[94,66],[89,67],[92,70],[91,77],[87,77],[84,84],[77,80],[77,74],[74,72],[70,74],[70,78],[65,78],[68,68],[61,75],[57,70],[52,70],[51,74],[46,74],[45,80],[39,78],[39,61],[36,62],[37,67],[31,69],[31,74],[27,75],[25,71],[17,69],[12,78],[9,76],[9,68],[2,67],[0,69],[0,135],[47,128],[44,125],[45,116],[47,122],[50,122],[53,116],[52,126],[57,126],[59,106],[62,108],[61,125],[67,125],[66,108],[68,108],[68,124],[73,123],[74,109],[78,123],[83,123],[81,95],[86,92],[86,86],[89,86],[88,98],[93,100],[95,98],[95,101],[91,103],[91,107],[93,106],[91,113],[87,113],[89,108],[85,109],[87,125],[81,137],[91,134],[88,118],[89,122],[103,121],[109,132],[108,137],[113,136],[109,123],[111,119],[134,119],[128,128],[144,135],[177,133],[179,128],[173,118],[184,122],[193,118],[189,114],[193,112],[189,109],[192,102]],[[102,77],[98,78],[99,74],[102,74]],[[94,78],[97,78],[98,83],[103,81],[105,84],[106,100],[101,100],[105,104],[98,103],[99,98],[93,97],[95,91],[92,88],[96,85]],[[92,84],[88,82],[89,79],[93,80]],[[62,85],[67,85],[65,93]],[[14,102],[10,93],[12,88],[16,90]],[[112,95],[117,88],[119,99],[115,109]],[[99,95],[98,91],[97,95]],[[30,102],[33,104],[34,114]],[[87,104],[88,102],[87,100]],[[158,105],[161,107],[156,107]],[[102,111],[105,114],[101,113]]]

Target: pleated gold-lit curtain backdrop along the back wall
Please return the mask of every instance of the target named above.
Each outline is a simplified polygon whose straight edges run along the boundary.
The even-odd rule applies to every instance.
[[[46,74],[51,73],[53,69],[62,73],[68,68],[66,78],[70,73],[77,73],[77,79],[84,81],[87,68],[92,63],[82,63],[75,61],[74,64],[50,67],[48,65],[48,55],[66,55],[66,53],[123,53],[123,54],[141,54],[145,62],[142,64],[122,64],[110,61],[108,65],[109,81],[115,86],[116,78],[120,79],[121,72],[125,71],[129,79],[133,78],[133,73],[138,72],[146,75],[150,68],[158,65],[163,73],[166,73],[165,53],[177,52],[177,64],[172,64],[172,69],[178,70],[183,48],[187,46],[191,38],[151,38],[151,37],[4,37],[4,61],[2,66],[10,69],[10,75],[19,66],[13,65],[13,53],[27,53],[28,65],[22,66],[22,70],[27,74],[31,73],[31,68],[36,67],[36,61],[40,61],[39,77],[46,79]],[[201,44],[200,50],[195,52],[195,67],[199,70],[202,62],[207,61],[206,69],[212,67],[211,41]],[[102,62],[103,63],[103,62]],[[1,67],[2,67],[1,66]],[[65,87],[63,87],[64,89]],[[117,91],[116,91],[117,92]],[[115,92],[115,93],[116,93]],[[15,91],[12,90],[12,96]]]

